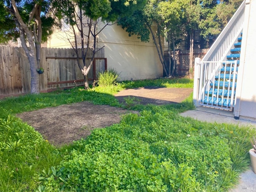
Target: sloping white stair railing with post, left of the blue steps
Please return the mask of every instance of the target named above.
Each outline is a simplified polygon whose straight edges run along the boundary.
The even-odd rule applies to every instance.
[[[234,43],[242,32],[244,10],[245,1],[236,10],[204,58],[202,60],[200,58],[195,59],[193,100],[196,107],[203,105],[204,93],[209,88],[210,83],[214,81],[220,66],[226,61],[226,56],[230,53],[230,49],[234,46]]]

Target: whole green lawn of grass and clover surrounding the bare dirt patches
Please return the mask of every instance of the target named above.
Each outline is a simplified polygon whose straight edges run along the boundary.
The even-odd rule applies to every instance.
[[[123,88],[192,88],[188,79],[121,82],[0,100],[0,191],[226,191],[248,168],[256,131],[184,118],[192,95],[180,104],[125,105]],[[119,124],[96,129],[86,140],[56,148],[16,113],[74,102],[127,107]],[[132,102],[127,101],[127,102]]]

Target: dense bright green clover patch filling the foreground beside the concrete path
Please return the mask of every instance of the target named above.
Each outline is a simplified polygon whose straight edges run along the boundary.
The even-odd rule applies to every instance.
[[[60,178],[41,184],[50,191],[226,191],[248,167],[253,132],[154,106],[74,142]]]

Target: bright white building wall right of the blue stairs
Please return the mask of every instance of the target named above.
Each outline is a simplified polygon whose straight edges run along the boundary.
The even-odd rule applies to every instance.
[[[235,116],[256,118],[256,0],[246,0]]]

